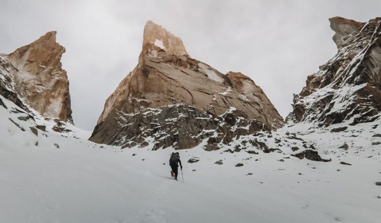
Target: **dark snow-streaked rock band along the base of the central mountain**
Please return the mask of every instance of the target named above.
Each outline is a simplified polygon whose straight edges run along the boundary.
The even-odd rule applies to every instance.
[[[112,129],[115,126],[113,132],[97,129]],[[93,135],[96,133],[103,139],[99,143],[122,147],[152,144],[152,150],[168,146],[192,148],[207,139],[205,149],[218,150],[218,143],[228,144],[240,135],[269,130],[263,128],[262,123],[247,120],[245,114],[235,108],[216,116],[201,112],[194,106],[174,104],[146,108],[136,114],[116,113],[108,122],[98,125]]]

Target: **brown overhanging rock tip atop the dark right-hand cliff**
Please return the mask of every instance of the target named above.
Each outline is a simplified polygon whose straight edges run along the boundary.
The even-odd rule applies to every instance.
[[[343,17],[332,17],[329,18],[330,26],[336,33],[333,35],[332,39],[338,48],[342,46],[342,41],[345,36],[351,34],[355,31],[360,31],[360,28],[364,26],[365,22],[357,22],[352,19],[346,19]]]

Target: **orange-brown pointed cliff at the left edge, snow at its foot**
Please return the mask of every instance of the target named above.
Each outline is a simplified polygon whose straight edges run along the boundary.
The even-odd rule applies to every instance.
[[[35,42],[1,55],[0,65],[4,80],[8,77],[19,100],[46,118],[72,123],[69,81],[60,62],[65,48],[56,43],[55,35],[55,31],[47,32]]]

